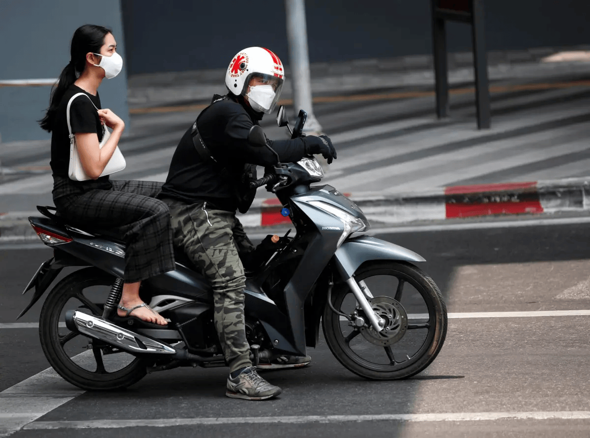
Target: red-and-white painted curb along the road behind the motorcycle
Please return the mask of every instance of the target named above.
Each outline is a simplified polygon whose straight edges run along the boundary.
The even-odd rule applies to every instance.
[[[399,194],[345,193],[375,225],[514,214],[590,211],[590,176],[548,181],[459,185]],[[277,198],[254,200],[238,214],[244,228],[290,224]],[[29,216],[37,211],[0,213],[0,242],[35,237]]]

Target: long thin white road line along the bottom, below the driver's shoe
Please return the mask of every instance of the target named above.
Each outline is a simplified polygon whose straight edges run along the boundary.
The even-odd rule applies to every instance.
[[[378,415],[326,415],[286,417],[226,417],[196,419],[145,419],[145,420],[91,420],[91,421],[38,421],[24,430],[50,429],[120,429],[122,427],[173,427],[219,424],[255,423],[340,423],[359,421],[490,421],[490,420],[588,420],[590,411],[549,412],[460,412],[440,414],[378,414]]]

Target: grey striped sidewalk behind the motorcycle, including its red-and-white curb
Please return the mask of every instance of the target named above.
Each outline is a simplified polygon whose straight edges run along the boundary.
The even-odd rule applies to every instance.
[[[450,60],[451,83],[461,87],[452,90],[447,120],[434,116],[428,57],[312,66],[314,112],[339,153],[322,183],[348,192],[376,227],[473,215],[586,214],[590,62],[541,62],[558,51],[490,54],[489,130],[476,129],[468,89],[473,67],[465,54]],[[163,181],[195,106],[224,91],[223,73],[130,78],[136,112],[121,142],[128,166],[117,178]],[[368,87],[371,93],[360,94]],[[289,99],[290,90],[283,93]],[[270,119],[265,131],[280,138],[283,130]],[[0,159],[12,172],[0,179],[0,241],[36,238],[26,217],[38,215],[35,205],[51,204],[48,142],[2,146]],[[245,226],[284,225],[271,196],[260,189],[241,217]]]

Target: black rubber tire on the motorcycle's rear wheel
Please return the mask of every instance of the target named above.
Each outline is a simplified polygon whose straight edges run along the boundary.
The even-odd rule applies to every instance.
[[[133,359],[121,370],[107,372],[104,370],[103,356],[100,348],[96,347],[95,350],[93,347],[94,360],[99,360],[96,357],[96,354],[99,354],[102,370],[99,371],[97,362],[96,371],[89,371],[74,362],[64,351],[64,344],[68,342],[64,339],[68,335],[60,336],[59,324],[64,322],[60,321],[60,315],[63,315],[64,310],[68,310],[64,309],[68,300],[77,299],[81,301],[78,297],[80,297],[82,291],[87,287],[111,286],[113,282],[114,277],[112,275],[95,267],[77,270],[64,277],[55,285],[47,296],[47,299],[45,299],[45,303],[41,309],[39,335],[45,357],[57,374],[63,377],[64,380],[83,390],[118,390],[137,383],[147,374],[146,363],[142,358]],[[88,298],[85,299],[89,302]],[[94,306],[91,304],[94,304]],[[93,315],[101,316],[103,303],[89,302],[86,308],[90,309]],[[70,339],[76,336],[72,335],[73,332],[70,332]],[[84,335],[78,334],[77,336]],[[88,339],[89,341],[91,340],[90,338]]]

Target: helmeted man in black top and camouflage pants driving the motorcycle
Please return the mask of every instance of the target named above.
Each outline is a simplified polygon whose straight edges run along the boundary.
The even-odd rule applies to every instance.
[[[181,247],[212,284],[215,328],[225,360],[230,365],[228,397],[264,400],[281,389],[261,378],[250,360],[244,326],[244,267],[240,258],[254,250],[235,216],[245,213],[254,198],[241,190],[253,166],[272,166],[276,156],[267,148],[248,143],[248,133],[270,113],[281,93],[283,64],[262,47],[248,47],[232,58],[225,86],[229,93],[215,95],[186,130],[172,157],[168,178],[159,198],[170,208],[174,243]],[[280,161],[299,161],[320,153],[328,163],[336,158],[330,139],[306,136],[267,140]],[[237,193],[242,195],[236,195]],[[246,190],[246,192],[248,192]],[[244,259],[245,260],[245,259]],[[272,358],[268,368],[293,368],[311,358]],[[261,368],[264,367],[261,363]]]

